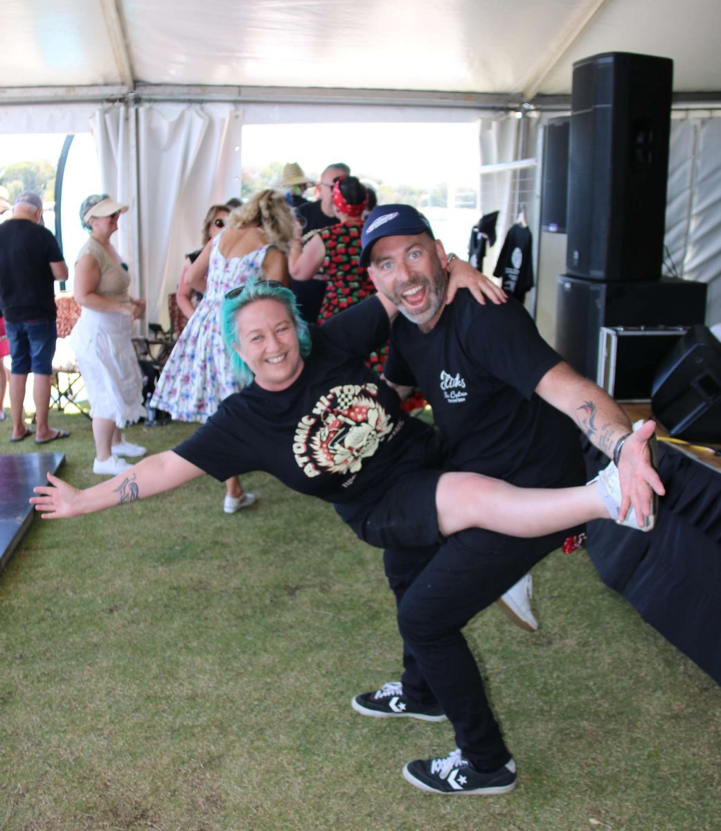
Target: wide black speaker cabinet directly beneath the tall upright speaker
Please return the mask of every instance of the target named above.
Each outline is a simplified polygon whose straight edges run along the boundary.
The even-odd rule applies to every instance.
[[[662,278],[645,283],[596,283],[558,278],[556,349],[596,381],[601,327],[693,326],[706,315],[706,283]]]

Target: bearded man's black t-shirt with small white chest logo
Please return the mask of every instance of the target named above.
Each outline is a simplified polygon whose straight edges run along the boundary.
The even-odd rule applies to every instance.
[[[559,486],[583,480],[578,431],[534,390],[561,360],[520,303],[482,306],[463,290],[431,332],[396,317],[384,374],[420,387],[452,469]]]

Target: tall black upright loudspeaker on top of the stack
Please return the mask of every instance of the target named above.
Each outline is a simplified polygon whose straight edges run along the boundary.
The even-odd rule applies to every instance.
[[[609,52],[573,65],[566,272],[657,280],[673,61]]]

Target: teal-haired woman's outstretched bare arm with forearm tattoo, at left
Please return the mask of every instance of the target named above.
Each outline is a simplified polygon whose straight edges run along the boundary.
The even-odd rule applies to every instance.
[[[73,488],[49,473],[49,484],[34,488],[38,495],[32,496],[30,503],[42,514],[42,519],[68,519],[162,494],[203,474],[199,467],[191,465],[172,450],[166,450],[85,490]]]

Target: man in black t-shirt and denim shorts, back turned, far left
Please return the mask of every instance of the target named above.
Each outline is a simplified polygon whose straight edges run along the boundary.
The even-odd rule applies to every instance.
[[[57,337],[55,281],[66,279],[67,266],[56,238],[42,226],[42,199],[31,190],[23,191],[12,219],[0,225],[0,308],[12,356],[11,441],[22,441],[32,434],[23,421],[30,372],[35,379],[35,443],[44,445],[70,435],[47,424]]]

